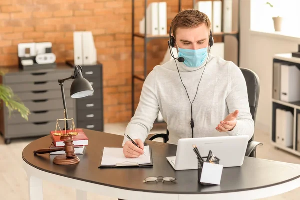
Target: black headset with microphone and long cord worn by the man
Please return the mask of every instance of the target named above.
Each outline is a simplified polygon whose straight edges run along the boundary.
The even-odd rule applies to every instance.
[[[182,82],[182,85],[183,85],[183,87],[184,87],[184,89],[185,89],[185,91],[186,91],[188,100],[189,100],[189,102],[190,102],[190,110],[191,110],[190,127],[191,127],[192,138],[193,138],[193,137],[194,137],[193,128],[194,128],[194,125],[195,125],[195,124],[194,124],[194,120],[193,120],[193,117],[192,117],[192,103],[193,103],[194,100],[196,99],[196,96],[197,96],[197,93],[198,93],[198,89],[199,89],[199,85],[200,85],[200,82],[201,82],[201,80],[202,80],[202,76],[203,76],[203,73],[204,73],[204,71],[205,71],[206,64],[207,64],[207,61],[208,61],[208,58],[209,58],[210,49],[211,49],[211,46],[212,46],[213,43],[214,43],[213,37],[212,37],[212,31],[211,31],[211,29],[210,29],[210,35],[209,35],[209,46],[210,46],[210,48],[209,48],[209,52],[208,52],[208,57],[207,57],[207,59],[206,59],[206,63],[205,63],[205,66],[204,66],[204,70],[203,70],[203,72],[202,72],[200,81],[199,81],[199,83],[198,83],[196,95],[195,95],[195,97],[194,97],[194,99],[193,99],[192,102],[190,101],[190,98],[189,98],[187,89],[186,89],[185,85],[183,84],[183,81],[182,81],[182,78],[181,78],[181,76],[180,76],[180,72],[179,72],[179,69],[178,69],[178,65],[177,65],[177,62],[176,62],[176,60],[178,60],[179,62],[184,62],[184,57],[178,57],[178,58],[175,58],[174,55],[173,55],[173,53],[172,53],[173,51],[172,51],[171,47],[172,47],[172,48],[175,47],[175,38],[172,36],[172,26],[170,27],[169,37],[170,37],[170,39],[168,40],[168,46],[169,46],[169,49],[170,49],[170,53],[171,53],[171,56],[172,56],[172,57],[174,58],[174,60],[175,60],[175,63],[176,63],[176,66],[177,66],[177,70],[178,70],[178,73],[179,73],[180,80],[181,80],[181,82]]]

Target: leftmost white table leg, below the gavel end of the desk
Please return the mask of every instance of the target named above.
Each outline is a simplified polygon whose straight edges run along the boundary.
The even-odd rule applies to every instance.
[[[42,180],[34,177],[28,176],[28,184],[29,184],[29,199],[30,200],[42,200]]]

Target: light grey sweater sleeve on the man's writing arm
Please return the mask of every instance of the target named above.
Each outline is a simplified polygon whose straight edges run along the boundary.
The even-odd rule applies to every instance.
[[[155,70],[152,70],[143,83],[137,109],[126,127],[126,133],[132,139],[139,138],[144,142],[153,127],[158,113],[159,105],[155,88]],[[123,146],[126,141],[128,139],[124,137]]]

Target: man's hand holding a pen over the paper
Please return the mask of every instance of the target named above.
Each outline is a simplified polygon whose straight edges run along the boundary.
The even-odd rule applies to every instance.
[[[137,145],[139,145],[141,149],[135,146],[131,141],[126,141],[126,143],[123,146],[123,153],[127,158],[139,157],[144,153],[143,142],[140,139],[133,139],[133,141],[137,143]]]

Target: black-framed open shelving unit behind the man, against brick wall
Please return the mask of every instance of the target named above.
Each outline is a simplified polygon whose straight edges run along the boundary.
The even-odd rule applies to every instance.
[[[223,2],[224,0],[222,0]],[[146,33],[146,10],[147,10],[147,0],[144,0],[145,4],[144,4],[144,16],[145,16],[145,30],[144,32]],[[195,4],[196,4],[196,0],[192,0],[192,7],[195,8]],[[223,3],[222,3],[222,7],[223,7]],[[178,12],[180,12],[181,10],[181,0],[178,0]],[[222,8],[223,10],[223,8]],[[223,13],[223,11],[222,11]],[[222,27],[223,27],[223,20],[224,17],[222,16]],[[238,31],[232,31],[232,32],[213,32],[213,37],[214,37],[214,42],[224,42],[224,38],[227,35],[230,36],[234,36],[237,39],[237,65],[239,65],[239,49],[240,49],[240,44],[239,44],[239,40],[240,40],[240,34],[239,34],[239,29],[240,29],[240,0],[238,0]],[[142,38],[144,39],[144,64],[143,64],[143,74],[136,74],[134,71],[134,57],[135,57],[135,48],[134,48],[134,39],[135,38]],[[144,81],[145,78],[147,77],[147,44],[149,41],[154,40],[154,39],[167,39],[169,38],[168,35],[168,31],[167,31],[167,35],[149,35],[149,34],[141,34],[141,33],[136,33],[134,32],[134,0],[132,0],[132,55],[131,55],[131,59],[132,59],[132,88],[131,88],[131,92],[132,92],[132,116],[134,115],[134,83],[135,83],[135,79],[140,80],[140,81]],[[221,39],[220,39],[221,38]],[[156,121],[157,123],[158,121]]]

